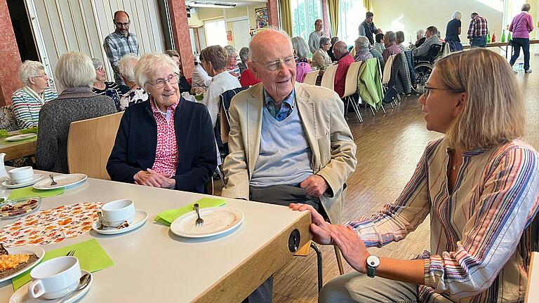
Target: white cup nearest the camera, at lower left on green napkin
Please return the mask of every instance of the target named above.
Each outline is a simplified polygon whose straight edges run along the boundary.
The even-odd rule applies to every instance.
[[[39,264],[30,271],[32,282],[28,295],[33,298],[58,299],[79,285],[81,267],[76,257],[57,257]]]

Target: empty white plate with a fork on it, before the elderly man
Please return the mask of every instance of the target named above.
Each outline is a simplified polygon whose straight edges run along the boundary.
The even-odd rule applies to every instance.
[[[224,234],[244,221],[244,213],[241,210],[228,206],[201,208],[200,217],[204,219],[204,224],[197,227],[194,224],[197,220],[197,213],[194,210],[181,215],[172,222],[171,231],[186,238],[204,238]]]

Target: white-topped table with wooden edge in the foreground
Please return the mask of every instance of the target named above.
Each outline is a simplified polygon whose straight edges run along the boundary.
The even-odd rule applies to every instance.
[[[5,188],[0,191],[4,196],[8,193]],[[239,208],[245,219],[239,229],[222,238],[181,238],[153,220],[163,210],[204,196],[90,178],[60,196],[44,198],[40,210],[129,198],[135,208],[149,213],[148,221],[126,234],[103,236],[90,231],[43,248],[53,250],[96,238],[114,260],[113,267],[93,273],[94,283],[81,302],[241,302],[292,255],[288,238],[293,229],[300,231],[300,247],[310,238],[308,213],[229,198],[225,198],[227,206]],[[1,220],[0,227],[12,222]],[[8,302],[12,294],[9,281],[0,283],[0,302]]]

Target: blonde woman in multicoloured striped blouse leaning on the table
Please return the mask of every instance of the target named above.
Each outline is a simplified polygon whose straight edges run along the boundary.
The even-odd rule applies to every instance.
[[[357,270],[326,283],[319,302],[524,300],[539,248],[539,156],[518,139],[526,119],[517,88],[494,52],[448,55],[419,99],[427,129],[445,135],[427,144],[397,201],[343,225],[291,205],[310,210],[314,241],[338,245]],[[404,239],[427,215],[430,252],[396,260],[366,250]]]

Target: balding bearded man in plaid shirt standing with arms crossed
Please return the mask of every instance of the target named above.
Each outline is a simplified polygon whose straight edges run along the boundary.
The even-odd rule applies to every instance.
[[[129,32],[129,25],[131,25],[131,20],[129,20],[128,13],[124,11],[117,11],[114,13],[114,26],[116,27],[116,30],[112,34],[109,34],[103,43],[107,58],[109,58],[112,70],[114,70],[114,81],[116,81],[123,94],[127,93],[129,88],[121,79],[118,68],[119,61],[122,56],[128,53],[140,55],[138,51],[137,36]]]

